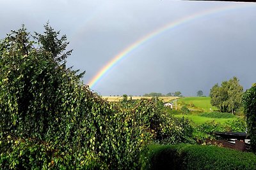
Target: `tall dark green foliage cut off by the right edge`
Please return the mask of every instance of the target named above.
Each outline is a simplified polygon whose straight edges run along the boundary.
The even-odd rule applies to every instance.
[[[248,127],[248,134],[251,139],[252,151],[256,153],[256,85],[254,84],[250,89],[243,94],[244,113],[246,115],[246,123]]]

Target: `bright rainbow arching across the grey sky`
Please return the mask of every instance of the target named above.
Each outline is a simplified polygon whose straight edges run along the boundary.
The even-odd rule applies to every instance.
[[[122,50],[122,52],[115,55],[115,57],[113,57],[113,59],[111,59],[104,67],[102,67],[100,69],[100,71],[92,78],[92,80],[89,81],[88,85],[91,89],[93,89],[95,87],[95,85],[97,85],[97,83],[106,75],[106,73],[108,73],[109,70],[111,70],[113,67],[115,67],[116,64],[118,64],[118,62],[120,62],[120,60],[127,57],[127,55],[129,55],[129,53],[134,51],[139,46],[143,45],[146,41],[150,41],[150,39],[155,38],[157,35],[165,32],[165,31],[168,31],[170,29],[178,27],[179,25],[186,24],[188,22],[192,22],[193,20],[197,20],[198,18],[206,17],[209,15],[213,15],[215,13],[223,12],[223,11],[236,10],[237,8],[244,8],[244,7],[250,7],[250,6],[255,7],[254,4],[234,3],[231,6],[223,6],[223,7],[219,7],[219,8],[213,8],[210,10],[200,11],[199,13],[194,13],[193,15],[188,15],[186,17],[179,18],[178,20],[170,22],[170,23],[164,25],[163,27],[160,27],[159,29],[156,29],[156,30],[150,32],[149,34],[143,36],[142,38],[138,39],[131,45],[127,46],[124,50]]]

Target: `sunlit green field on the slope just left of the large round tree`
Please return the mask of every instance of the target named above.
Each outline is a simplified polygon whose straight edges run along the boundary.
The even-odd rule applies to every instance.
[[[211,97],[184,97],[178,100],[178,104],[182,102],[186,104],[193,103],[196,106],[196,108],[206,112],[218,110],[216,107],[211,105]]]

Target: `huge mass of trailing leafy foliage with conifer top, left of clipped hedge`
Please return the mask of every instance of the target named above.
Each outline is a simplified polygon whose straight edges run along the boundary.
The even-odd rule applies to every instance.
[[[191,140],[188,120],[154,101],[91,92],[65,66],[65,36],[45,29],[38,42],[22,27],[0,43],[0,169],[138,169],[148,143]]]

